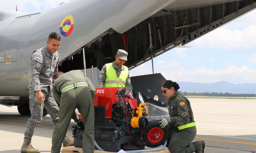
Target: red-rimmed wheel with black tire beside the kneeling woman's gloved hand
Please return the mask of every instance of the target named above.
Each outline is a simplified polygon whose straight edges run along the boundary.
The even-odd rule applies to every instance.
[[[160,129],[160,120],[152,120],[148,122],[146,128],[142,129],[144,133],[142,133],[142,137],[147,138],[147,147],[155,148],[161,146],[168,138],[169,130],[167,126],[165,128]]]

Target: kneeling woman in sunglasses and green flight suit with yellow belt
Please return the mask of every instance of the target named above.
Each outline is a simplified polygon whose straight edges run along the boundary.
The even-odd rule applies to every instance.
[[[171,153],[204,153],[204,141],[194,140],[197,129],[189,100],[180,92],[177,92],[179,85],[170,80],[162,84],[163,96],[168,99],[168,111],[170,118],[164,118],[160,128],[166,125],[169,129],[168,149]],[[191,143],[190,143],[191,142]]]

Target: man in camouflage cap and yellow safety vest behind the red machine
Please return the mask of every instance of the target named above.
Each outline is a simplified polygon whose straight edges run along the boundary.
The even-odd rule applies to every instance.
[[[128,68],[123,65],[125,63],[125,61],[127,61],[127,55],[128,55],[128,53],[126,51],[124,51],[122,49],[119,49],[117,51],[116,56],[115,56],[116,60],[111,65],[109,63],[109,64],[105,64],[102,67],[102,69],[100,71],[98,87],[119,87],[121,85],[121,86],[129,88],[130,92],[132,94],[132,86],[131,86],[130,74],[129,74]],[[111,80],[112,81],[111,82],[112,85],[109,85],[107,83],[107,82],[110,82],[110,81],[108,81],[109,79],[108,79],[108,74],[107,74],[107,72],[109,72],[109,67],[110,68],[111,67],[114,68],[115,73],[116,73],[116,79],[118,78],[117,79],[117,83],[116,82],[113,83],[113,81],[116,81],[116,80],[113,80],[113,79]],[[111,71],[111,72],[113,72],[113,71]],[[127,78],[125,80],[123,80],[123,81],[120,80],[120,76],[121,77],[123,76],[123,75],[121,75],[121,73],[124,74],[126,72],[128,74],[128,75],[126,75]],[[112,75],[113,75],[113,77],[115,77],[114,74],[112,74]],[[126,77],[126,76],[124,76],[124,77]]]

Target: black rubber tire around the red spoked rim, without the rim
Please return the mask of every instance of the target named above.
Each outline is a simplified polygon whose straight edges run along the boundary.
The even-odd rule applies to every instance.
[[[148,133],[150,132],[151,129],[153,128],[159,128],[160,123],[158,124],[160,120],[152,120],[148,122],[148,125],[146,128],[142,129],[143,132]],[[159,142],[150,142],[150,140],[147,140],[147,147],[150,148],[155,148],[155,147],[159,147],[161,146],[163,143],[165,143],[165,141],[168,138],[169,135],[169,130],[167,128],[167,126],[165,126],[165,128],[162,129],[163,130],[163,137]],[[142,137],[147,138],[148,139],[148,135],[142,132]]]

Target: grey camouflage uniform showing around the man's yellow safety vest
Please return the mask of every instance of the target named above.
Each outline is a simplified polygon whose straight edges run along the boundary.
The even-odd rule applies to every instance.
[[[112,66],[114,67],[116,71],[116,77],[119,78],[122,70],[125,70],[125,67],[115,65],[115,63],[112,63]],[[104,87],[106,81],[106,65],[104,65],[100,71],[100,77],[99,77],[99,82],[98,82],[98,87]],[[128,73],[128,77],[126,78],[125,81],[125,87],[130,89],[130,92],[132,93],[132,86],[131,86],[131,80],[130,80],[130,74]]]

